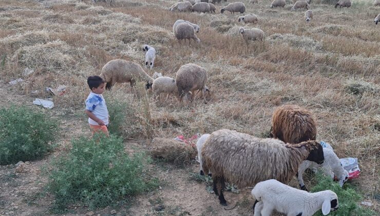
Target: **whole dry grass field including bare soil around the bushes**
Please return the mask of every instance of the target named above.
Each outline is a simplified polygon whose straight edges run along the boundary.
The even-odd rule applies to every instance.
[[[168,11],[176,2],[0,1],[0,105],[32,104],[36,97],[49,96],[46,87],[67,86],[64,95],[53,98],[54,109],[47,111],[60,119],[59,147],[48,158],[31,162],[29,173],[11,178],[13,168],[0,167],[0,214],[49,214],[53,197],[39,195],[46,183],[39,170],[69,149],[72,137],[89,135],[83,114],[87,77],[99,75],[112,59],[143,65],[143,44],[157,52],[153,70],[145,69],[149,75],[157,71],[175,77],[181,65],[195,63],[207,70],[211,95],[207,104],[198,98],[181,107],[174,97],[155,102],[150,92],[144,94],[143,83],[135,89],[116,84],[104,95],[126,101],[134,112],[134,122],[125,128],[135,130],[126,148],[147,150],[154,137],[189,137],[223,128],[264,137],[275,107],[297,104],[316,117],[318,140],[329,142],[339,157],[359,159],[362,173],[351,183],[380,211],[374,200],[380,193],[380,25],[373,23],[380,7],[372,7],[372,0],[354,0],[350,8],[335,9],[328,1],[314,0],[314,19],[306,23],[305,10],[291,11],[292,2],[271,9],[270,0],[255,5],[242,0],[245,14],[259,18],[256,25],[244,25],[237,22],[240,14],[220,13],[222,6],[237,1],[222,1],[216,14]],[[200,43],[179,45],[172,32],[178,19],[200,26]],[[240,26],[263,30],[264,44],[246,45],[238,34]],[[24,77],[26,67],[34,73]],[[8,84],[17,78],[24,81]],[[227,192],[227,201],[239,205],[226,211],[203,184],[189,180],[188,173],[198,172],[199,164],[152,166],[162,189],[138,196],[118,215],[252,215],[250,190]],[[296,181],[292,184],[297,186]],[[165,210],[155,211],[154,201]],[[107,215],[112,209],[94,212]],[[83,206],[72,211],[88,212]]]

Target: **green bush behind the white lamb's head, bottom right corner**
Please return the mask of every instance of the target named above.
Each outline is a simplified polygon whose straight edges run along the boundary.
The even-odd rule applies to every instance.
[[[370,216],[375,215],[368,208],[364,208],[358,204],[363,200],[350,184],[346,183],[343,188],[338,183],[334,182],[330,177],[325,176],[321,172],[316,174],[317,184],[311,189],[311,192],[322,190],[332,190],[338,195],[339,208],[336,211],[331,211],[329,215],[352,215],[352,216]],[[322,216],[321,211],[317,211],[315,216]]]

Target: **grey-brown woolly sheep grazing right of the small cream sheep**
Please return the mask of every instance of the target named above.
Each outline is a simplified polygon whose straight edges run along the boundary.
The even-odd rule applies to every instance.
[[[186,100],[191,98],[190,96],[194,95],[194,91],[200,90],[204,103],[207,103],[205,97],[207,72],[203,67],[193,63],[182,65],[177,71],[176,80],[180,101],[184,98]],[[188,94],[189,91],[192,92],[191,95]]]

